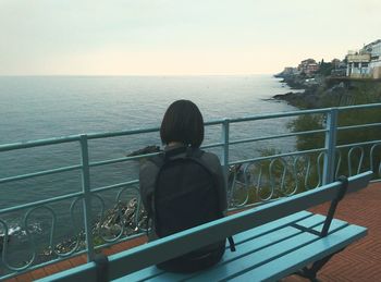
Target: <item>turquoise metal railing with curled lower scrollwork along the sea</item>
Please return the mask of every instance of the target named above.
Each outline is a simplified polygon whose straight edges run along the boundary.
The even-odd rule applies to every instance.
[[[327,108],[315,109],[294,112],[282,112],[273,114],[260,114],[239,119],[223,119],[207,122],[206,126],[221,126],[221,140],[206,144],[202,148],[219,149],[221,163],[223,165],[224,175],[229,185],[229,200],[230,208],[239,208],[242,206],[260,205],[263,201],[272,200],[283,196],[290,196],[304,189],[316,188],[322,184],[334,181],[341,171],[346,171],[348,175],[353,175],[355,172],[365,171],[371,169],[374,171],[376,181],[381,176],[381,139],[365,140],[360,143],[336,144],[337,134],[345,131],[354,130],[374,130],[381,127],[381,123],[367,123],[367,124],[352,124],[345,126],[337,126],[337,119],[340,113],[348,110],[369,110],[380,109],[381,103],[364,105],[354,107],[341,107],[341,108]],[[232,138],[232,125],[250,123],[256,121],[268,121],[274,119],[297,119],[303,115],[320,115],[322,119],[322,127],[308,131],[288,132],[282,134],[267,135],[267,136],[253,136],[249,138]],[[126,216],[126,210],[118,209],[119,223],[116,224],[119,230],[110,238],[102,235],[102,219],[105,218],[105,211],[107,206],[101,197],[101,193],[108,191],[119,189],[115,203],[121,203],[122,194],[132,189],[138,195],[138,180],[130,180],[120,182],[112,185],[91,187],[91,170],[97,167],[103,167],[115,163],[125,163],[134,160],[140,160],[153,154],[121,157],[115,159],[107,159],[100,161],[90,161],[88,143],[96,139],[106,139],[120,136],[135,136],[139,134],[157,133],[159,128],[143,128],[133,131],[121,131],[112,133],[97,133],[97,134],[84,134],[74,135],[60,138],[41,139],[25,143],[15,143],[0,145],[0,156],[3,152],[10,152],[21,149],[46,147],[58,144],[79,144],[81,148],[81,163],[74,165],[66,165],[56,169],[48,169],[36,171],[33,173],[24,173],[20,175],[12,175],[0,179],[0,195],[1,185],[7,183],[16,183],[19,181],[36,179],[40,176],[53,175],[58,173],[65,173],[72,171],[81,171],[82,175],[82,191],[67,193],[64,195],[30,201],[23,205],[15,205],[7,207],[0,210],[0,231],[2,231],[2,256],[0,263],[0,279],[12,278],[25,271],[29,271],[49,263],[66,259],[67,257],[77,256],[79,254],[86,254],[88,260],[93,260],[96,252],[99,248],[107,247],[122,241],[127,241],[136,236],[142,235],[148,228],[144,223],[144,211],[142,211],[142,204],[138,199],[132,199],[134,206],[132,212]],[[308,135],[323,136],[323,146],[314,147],[305,150],[292,150],[287,152],[279,152],[276,150],[272,154],[260,154],[259,156],[248,156],[244,159],[232,160],[231,149],[233,146],[251,144],[258,142],[280,140],[290,137],[300,137]],[[253,134],[257,135],[257,134]],[[341,168],[344,157],[342,151],[346,151],[347,169]],[[369,156],[369,163],[365,164],[364,159],[366,154]],[[355,157],[357,156],[357,157]],[[22,160],[20,160],[22,161]],[[357,164],[354,163],[357,161]],[[367,167],[368,165],[368,167]],[[356,170],[356,171],[355,171]],[[311,181],[315,184],[310,184]],[[254,195],[254,196],[253,196]],[[83,224],[76,226],[78,233],[74,236],[74,244],[70,249],[58,250],[54,245],[54,234],[57,233],[57,210],[51,208],[54,203],[71,200],[69,217],[73,221],[73,225],[76,225],[74,218],[77,216],[75,207],[82,201],[82,217]],[[98,211],[94,211],[94,203],[97,201],[100,205]],[[128,204],[130,205],[130,204]],[[23,262],[14,263],[10,261],[9,248],[12,244],[12,237],[9,235],[10,228],[7,221],[7,214],[16,211],[25,211],[23,217],[22,229],[25,231],[25,240],[30,246],[30,257],[23,258]],[[28,229],[28,222],[32,214],[35,212],[45,212],[50,216],[50,233],[48,248],[51,252],[52,258],[47,261],[38,261],[36,242],[34,235]],[[130,210],[131,211],[131,210]],[[124,212],[124,213],[123,213]],[[133,214],[133,216],[131,216]],[[125,217],[130,216],[130,221],[126,222]],[[123,219],[124,217],[124,219]],[[98,231],[95,228],[95,221],[98,221]],[[134,222],[134,223],[132,223]],[[134,232],[131,235],[126,235],[126,224],[132,224]],[[95,242],[96,237],[98,241]],[[84,245],[82,243],[85,243]]]

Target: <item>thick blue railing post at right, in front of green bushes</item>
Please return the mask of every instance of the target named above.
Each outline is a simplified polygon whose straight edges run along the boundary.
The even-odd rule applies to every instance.
[[[327,113],[325,154],[323,168],[323,185],[334,181],[335,148],[337,134],[337,108]]]

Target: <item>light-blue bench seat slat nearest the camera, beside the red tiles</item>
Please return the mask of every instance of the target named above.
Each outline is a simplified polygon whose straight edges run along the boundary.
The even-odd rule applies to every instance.
[[[253,269],[232,281],[274,281],[294,273],[304,266],[339,252],[351,243],[364,237],[367,229],[348,225],[334,234],[280,257],[259,268]],[[311,256],[311,254],[315,254]]]

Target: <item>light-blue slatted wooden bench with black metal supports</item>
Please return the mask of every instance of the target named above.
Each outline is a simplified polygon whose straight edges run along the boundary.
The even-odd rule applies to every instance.
[[[317,280],[336,253],[364,237],[367,229],[333,218],[345,193],[368,185],[371,172],[280,199],[138,247],[100,257],[41,281],[276,281],[298,273]],[[331,201],[327,217],[305,211]],[[359,204],[360,205],[360,204]],[[155,267],[170,258],[234,235],[236,252],[226,249],[214,267],[176,274]]]

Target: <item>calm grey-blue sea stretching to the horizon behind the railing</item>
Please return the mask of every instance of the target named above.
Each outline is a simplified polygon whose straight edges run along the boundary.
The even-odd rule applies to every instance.
[[[291,111],[295,108],[267,100],[288,90],[270,75],[0,77],[0,144],[159,126],[167,107],[181,98],[196,102],[206,121]],[[244,138],[284,133],[288,121],[281,119],[233,125],[231,135],[232,138]],[[208,127],[206,134],[206,143],[219,140],[220,126]],[[258,156],[259,149],[263,148],[290,150],[294,143],[293,138],[288,138],[236,146],[232,148],[231,156],[233,159]],[[94,140],[89,143],[90,161],[120,158],[147,145],[160,145],[158,134]],[[220,152],[218,149],[214,151]],[[77,144],[0,152],[0,179],[78,163]],[[136,162],[94,168],[90,185],[94,188],[133,180],[137,172]],[[0,208],[79,189],[79,172],[0,184]],[[106,205],[115,203],[118,192],[103,195]],[[125,197],[131,197],[125,194]],[[59,216],[61,235],[73,225],[67,220],[70,205],[71,201],[51,205]],[[79,206],[76,205],[74,210],[81,209]],[[0,218],[11,225],[19,225],[25,212],[12,212]],[[33,224],[41,217],[48,220],[47,214],[33,212],[26,224]]]

